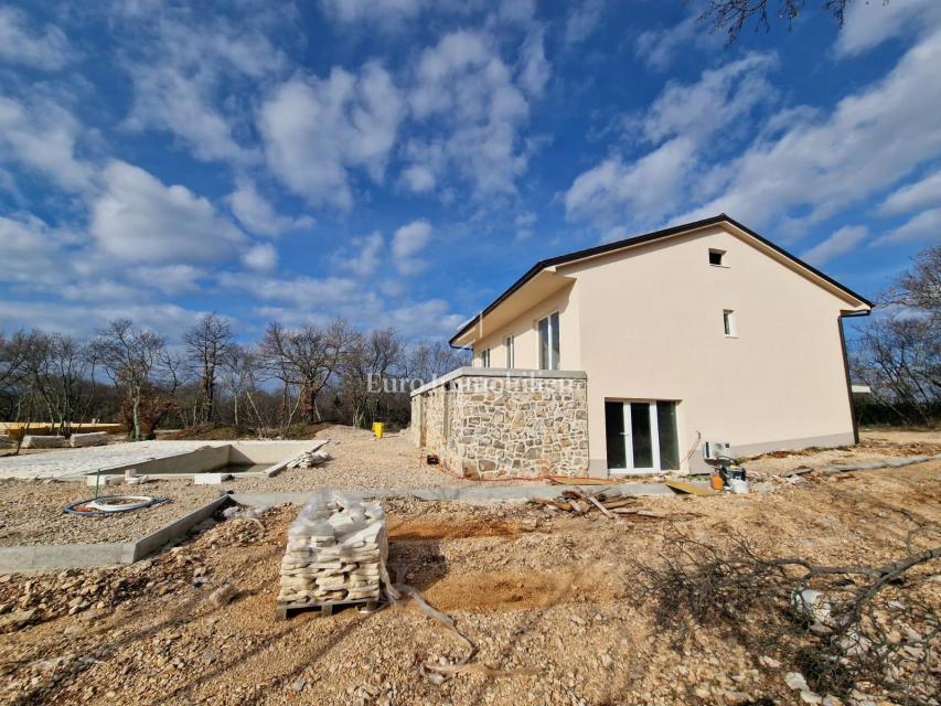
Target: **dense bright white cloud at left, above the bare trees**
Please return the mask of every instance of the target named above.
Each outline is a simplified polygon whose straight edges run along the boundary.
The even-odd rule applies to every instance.
[[[185,186],[167,186],[149,172],[111,161],[105,192],[92,207],[89,231],[108,255],[130,263],[221,263],[244,235]]]

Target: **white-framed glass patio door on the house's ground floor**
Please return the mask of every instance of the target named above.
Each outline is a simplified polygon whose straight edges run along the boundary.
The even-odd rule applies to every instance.
[[[643,473],[678,470],[676,403],[605,403],[608,469]]]

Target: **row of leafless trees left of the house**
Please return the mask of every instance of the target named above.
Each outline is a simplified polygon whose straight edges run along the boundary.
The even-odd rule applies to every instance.
[[[443,343],[408,345],[394,329],[360,331],[343,319],[288,328],[239,343],[227,319],[207,313],[178,342],[111,321],[88,340],[42,330],[0,332],[0,419],[51,426],[118,421],[131,439],[158,428],[231,426],[259,437],[297,425],[408,422],[406,385],[467,364]],[[303,431],[301,431],[303,432]]]

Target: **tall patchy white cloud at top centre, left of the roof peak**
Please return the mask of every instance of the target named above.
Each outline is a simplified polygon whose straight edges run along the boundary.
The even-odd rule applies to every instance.
[[[544,68],[526,78],[530,89],[544,79]],[[521,131],[530,105],[490,35],[451,32],[426,49],[409,105],[431,133],[411,140],[406,150],[410,168],[423,170],[417,172],[423,188],[432,174],[439,186],[469,182],[478,199],[516,194],[515,181],[528,163]]]

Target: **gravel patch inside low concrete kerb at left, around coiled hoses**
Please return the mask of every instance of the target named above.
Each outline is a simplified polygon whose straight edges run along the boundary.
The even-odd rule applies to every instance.
[[[64,513],[63,507],[94,498],[94,488],[75,482],[0,480],[0,546],[138,539],[217,498],[220,491],[218,486],[193,485],[192,480],[172,480],[127,489],[110,486],[101,494],[125,492],[169,500],[133,512],[78,517]]]

